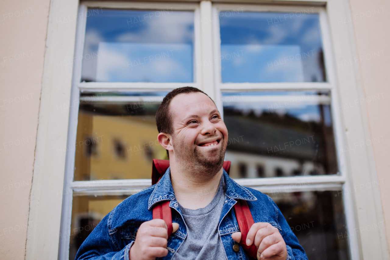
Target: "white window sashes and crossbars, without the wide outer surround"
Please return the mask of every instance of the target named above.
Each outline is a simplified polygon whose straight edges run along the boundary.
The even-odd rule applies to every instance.
[[[332,107],[332,119],[333,119],[333,132],[335,135],[336,147],[340,147],[341,140],[338,138],[340,129],[339,121],[335,118],[337,114],[335,111],[336,95],[332,93],[332,90],[335,89],[335,79],[333,77],[333,66],[330,63],[331,45],[325,35],[329,36],[326,28],[326,12],[323,7],[313,7],[312,10],[319,14],[320,20],[320,30],[321,30],[321,40],[323,41],[323,50],[324,50],[324,61],[326,69],[327,82],[277,82],[277,83],[222,83],[222,74],[221,74],[221,63],[215,62],[214,66],[211,68],[204,69],[203,66],[200,66],[199,61],[209,61],[210,57],[220,56],[220,25],[219,25],[219,11],[229,11],[236,8],[243,8],[244,11],[252,12],[264,12],[264,11],[273,11],[273,12],[290,12],[290,11],[301,11],[305,8],[310,8],[309,6],[278,6],[278,5],[237,5],[237,4],[208,4],[207,2],[197,4],[179,4],[172,5],[174,10],[179,11],[194,11],[194,79],[196,82],[193,83],[144,83],[144,82],[80,82],[81,81],[81,72],[82,72],[82,63],[75,63],[74,66],[74,82],[73,90],[74,93],[74,107],[71,109],[74,125],[71,127],[69,125],[69,136],[68,136],[68,147],[73,147],[73,144],[76,141],[77,134],[77,118],[78,118],[78,107],[79,107],[79,98],[77,98],[80,92],[83,91],[142,91],[142,92],[152,92],[158,90],[171,90],[176,87],[181,87],[183,85],[190,85],[193,87],[200,88],[200,83],[205,84],[208,87],[209,93],[213,93],[213,96],[219,97],[222,100],[223,91],[259,91],[259,90],[328,90],[331,91],[331,107]],[[167,4],[160,4],[156,7],[152,3],[139,3],[139,2],[123,2],[123,3],[109,3],[109,2],[90,2],[86,1],[80,4],[80,12],[85,13],[88,8],[110,8],[110,9],[142,9],[142,10],[156,10],[167,8]],[[170,7],[169,7],[170,8]],[[201,10],[201,11],[200,11]],[[204,14],[200,16],[200,12]],[[213,15],[211,18],[210,16]],[[207,17],[208,16],[208,17]],[[218,18],[216,18],[218,17]],[[85,28],[86,28],[86,17],[83,16],[80,18],[77,36],[78,41],[76,41],[76,55],[78,57],[83,55],[84,49],[84,39],[85,39]],[[210,23],[208,21],[211,21]],[[211,34],[211,37],[210,37]],[[325,35],[324,35],[325,34]],[[207,37],[209,36],[209,37]],[[212,41],[207,39],[212,39]],[[200,44],[200,40],[202,43]],[[200,52],[202,52],[202,57],[200,57]],[[195,65],[196,64],[196,65]],[[205,75],[204,80],[202,81],[202,76]],[[214,79],[214,82],[212,80]],[[198,83],[197,83],[198,82]],[[206,87],[204,86],[204,87]],[[211,89],[210,89],[211,88]],[[205,89],[206,90],[206,89]],[[218,110],[221,111],[223,116],[223,103],[217,102]],[[73,140],[73,141],[72,141]],[[344,146],[341,146],[344,147]],[[286,187],[294,185],[295,187],[299,183],[305,183],[304,187],[299,189],[288,189],[288,192],[294,191],[340,191],[343,186],[346,184],[346,169],[342,166],[345,164],[341,162],[342,154],[339,154],[337,151],[337,162],[339,165],[339,174],[337,175],[328,175],[328,176],[291,176],[291,177],[274,177],[274,178],[243,178],[237,179],[236,181],[246,187],[251,187],[257,189],[261,192],[275,192],[283,191]],[[65,183],[64,191],[64,200],[63,203],[66,207],[63,208],[62,215],[62,234],[71,234],[71,216],[72,216],[72,202],[73,196],[83,196],[83,195],[119,195],[119,194],[135,194],[136,192],[145,189],[151,185],[150,179],[128,179],[128,180],[99,180],[99,181],[74,181],[74,159],[75,159],[75,149],[69,149],[67,152],[67,171],[65,173],[67,182]],[[92,182],[92,183],[91,183]],[[306,184],[310,183],[311,184]],[[91,187],[92,186],[94,187]],[[343,196],[343,203],[347,205],[349,203],[347,198]],[[347,230],[349,226],[355,226],[354,219],[351,217],[351,212],[349,208],[344,206],[344,211],[346,214],[346,224]],[[356,240],[356,239],[355,239]],[[356,241],[352,239],[349,240],[349,250],[357,251]],[[60,259],[69,258],[69,238],[65,237],[64,240],[60,241]]]

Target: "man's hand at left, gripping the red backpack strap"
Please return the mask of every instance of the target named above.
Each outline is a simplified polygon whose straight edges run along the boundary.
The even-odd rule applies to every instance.
[[[173,232],[179,224],[172,223]],[[135,242],[130,248],[130,260],[154,260],[168,255],[168,228],[162,219],[146,221],[138,228]]]

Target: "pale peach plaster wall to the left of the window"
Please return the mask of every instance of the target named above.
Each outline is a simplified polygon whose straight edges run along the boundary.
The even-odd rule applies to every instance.
[[[49,3],[0,3],[1,259],[25,258]]]

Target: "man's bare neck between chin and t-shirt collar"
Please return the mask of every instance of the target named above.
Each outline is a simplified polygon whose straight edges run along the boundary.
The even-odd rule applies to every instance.
[[[204,208],[213,200],[222,174],[222,168],[210,177],[202,173],[187,172],[175,164],[170,166],[171,182],[177,201],[184,208],[193,210]]]

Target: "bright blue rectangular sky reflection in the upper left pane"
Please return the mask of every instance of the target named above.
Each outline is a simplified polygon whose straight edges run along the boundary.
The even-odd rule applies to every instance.
[[[99,43],[96,81],[192,82],[190,44]]]

